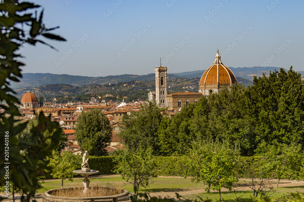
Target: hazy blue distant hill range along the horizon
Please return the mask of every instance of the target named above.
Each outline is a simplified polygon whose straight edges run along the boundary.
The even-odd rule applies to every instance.
[[[234,75],[237,77],[237,81],[243,83],[245,86],[251,85],[254,75],[263,76],[263,73],[266,76],[269,76],[270,71],[279,70],[278,67],[243,67],[243,68],[233,68],[229,67]],[[177,79],[177,78],[201,78],[202,74],[206,70],[197,70],[197,71],[187,71],[182,73],[167,74],[168,80]],[[299,71],[304,75],[304,71]],[[127,82],[127,81],[154,81],[155,74],[151,73],[148,75],[113,75],[105,77],[88,77],[88,76],[74,76],[67,74],[50,74],[50,73],[24,73],[22,74],[23,78],[20,79],[20,82],[12,82],[12,88],[34,88],[46,84],[69,84],[72,86],[85,86],[85,85],[98,85],[98,84],[117,84],[118,82]],[[242,80],[247,79],[247,80]]]

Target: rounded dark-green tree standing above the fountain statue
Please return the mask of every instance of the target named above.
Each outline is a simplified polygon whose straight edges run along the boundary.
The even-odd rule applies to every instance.
[[[90,155],[105,154],[105,147],[110,145],[112,129],[108,118],[95,108],[80,114],[75,128],[76,140],[83,150]]]

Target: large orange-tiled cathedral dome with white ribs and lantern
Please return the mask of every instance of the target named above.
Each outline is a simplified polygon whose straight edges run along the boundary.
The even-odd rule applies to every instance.
[[[217,50],[215,61],[202,75],[199,82],[199,92],[203,95],[217,93],[219,89],[234,84],[237,81],[233,72],[221,61],[219,50]]]

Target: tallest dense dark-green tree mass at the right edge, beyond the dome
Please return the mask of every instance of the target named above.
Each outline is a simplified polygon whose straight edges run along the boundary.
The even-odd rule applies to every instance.
[[[301,75],[292,70],[270,73],[269,77],[254,78],[246,90],[249,104],[253,106],[256,120],[256,142],[272,144],[304,143],[304,82]]]

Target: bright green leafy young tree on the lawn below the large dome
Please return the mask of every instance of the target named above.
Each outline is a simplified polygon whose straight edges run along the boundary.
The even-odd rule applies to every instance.
[[[221,201],[221,188],[231,191],[233,183],[238,181],[239,159],[240,149],[232,148],[228,141],[193,142],[192,149],[186,155],[188,170],[185,174],[192,176],[192,181],[204,180],[211,184],[213,190],[219,191]],[[209,186],[205,188],[209,189]]]

